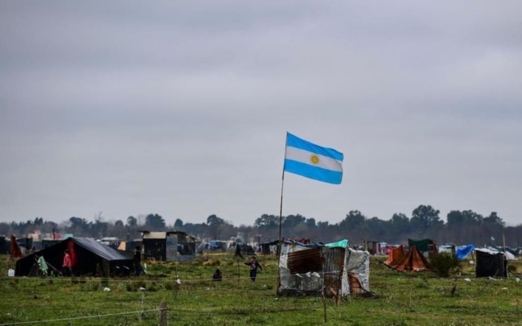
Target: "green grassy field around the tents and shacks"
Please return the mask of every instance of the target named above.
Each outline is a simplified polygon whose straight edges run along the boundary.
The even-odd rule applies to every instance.
[[[0,258],[0,324],[156,309],[167,303],[169,324],[175,325],[322,325],[323,300],[318,297],[277,297],[275,258],[259,258],[264,271],[252,283],[248,269],[228,254],[199,256],[194,262],[148,262],[147,277],[139,279],[7,279],[14,266]],[[522,272],[522,263],[517,273]],[[175,268],[182,280],[175,282]],[[429,273],[414,278],[390,271],[372,258],[370,287],[378,298],[353,296],[339,306],[327,299],[329,325],[522,325],[522,283],[514,279],[489,282],[473,279],[472,266],[452,296],[452,279]],[[205,281],[219,268],[223,282]],[[470,277],[472,282],[465,282]],[[156,279],[156,280],[154,280]],[[139,287],[147,291],[139,291]],[[110,292],[103,288],[109,287]],[[157,325],[158,311],[54,321],[49,325]],[[41,324],[40,322],[38,324]]]

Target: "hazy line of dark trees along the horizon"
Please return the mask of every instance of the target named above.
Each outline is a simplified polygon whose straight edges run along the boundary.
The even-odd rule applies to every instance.
[[[54,229],[62,234],[95,238],[118,237],[134,239],[140,237],[140,230],[167,231],[178,230],[193,234],[198,238],[229,239],[241,234],[246,241],[260,239],[262,242],[278,239],[279,216],[262,214],[253,225],[234,226],[215,214],[208,216],[202,223],[184,223],[176,219],[167,224],[163,216],[157,213],[128,216],[124,220],[106,221],[101,213],[93,221],[76,216],[56,223],[35,218],[27,222],[0,223],[0,234],[10,233],[17,236],[27,235],[36,230],[51,233]],[[316,242],[335,242],[349,239],[352,244],[359,244],[363,239],[392,244],[405,243],[408,238],[431,238],[438,243],[477,246],[502,245],[503,236],[506,245],[522,246],[522,224],[506,226],[496,212],[481,215],[472,210],[452,210],[441,219],[440,211],[430,205],[420,205],[410,216],[395,213],[389,220],[374,216],[369,218],[358,210],[352,210],[339,223],[316,221],[301,214],[287,215],[282,219],[282,236],[286,238],[310,238]]]

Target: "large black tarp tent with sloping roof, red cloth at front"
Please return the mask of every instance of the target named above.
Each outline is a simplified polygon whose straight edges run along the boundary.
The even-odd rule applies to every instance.
[[[16,262],[17,276],[37,276],[39,259],[44,258],[49,270],[58,273],[62,268],[64,251],[70,251],[73,275],[115,276],[134,273],[132,252],[118,251],[93,238],[67,238],[53,246],[33,252]],[[40,260],[41,263],[41,260]]]

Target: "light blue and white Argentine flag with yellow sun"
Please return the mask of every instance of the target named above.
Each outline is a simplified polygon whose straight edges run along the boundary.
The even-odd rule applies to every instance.
[[[287,132],[287,147],[284,151],[286,172],[307,178],[340,184],[344,155],[335,149],[318,146]]]

